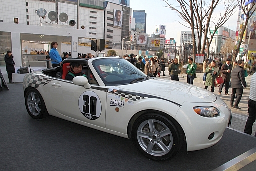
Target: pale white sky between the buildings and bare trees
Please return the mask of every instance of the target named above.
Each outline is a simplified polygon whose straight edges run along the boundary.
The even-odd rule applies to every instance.
[[[179,4],[176,0],[169,0],[169,2],[176,6]],[[180,21],[181,23],[184,23],[184,21],[179,18],[176,11],[165,6],[167,6],[166,2],[162,0],[130,0],[130,8],[132,8],[132,12],[133,10],[145,10],[145,13],[147,14],[146,33],[150,34],[150,36],[155,32],[156,25],[166,26],[166,39],[177,39],[177,32],[191,31],[191,28],[186,28],[178,22]],[[216,14],[219,15],[223,10],[221,6],[223,5],[219,5],[214,13],[216,12]],[[231,16],[223,26],[236,31],[237,18],[238,8],[236,13]]]

